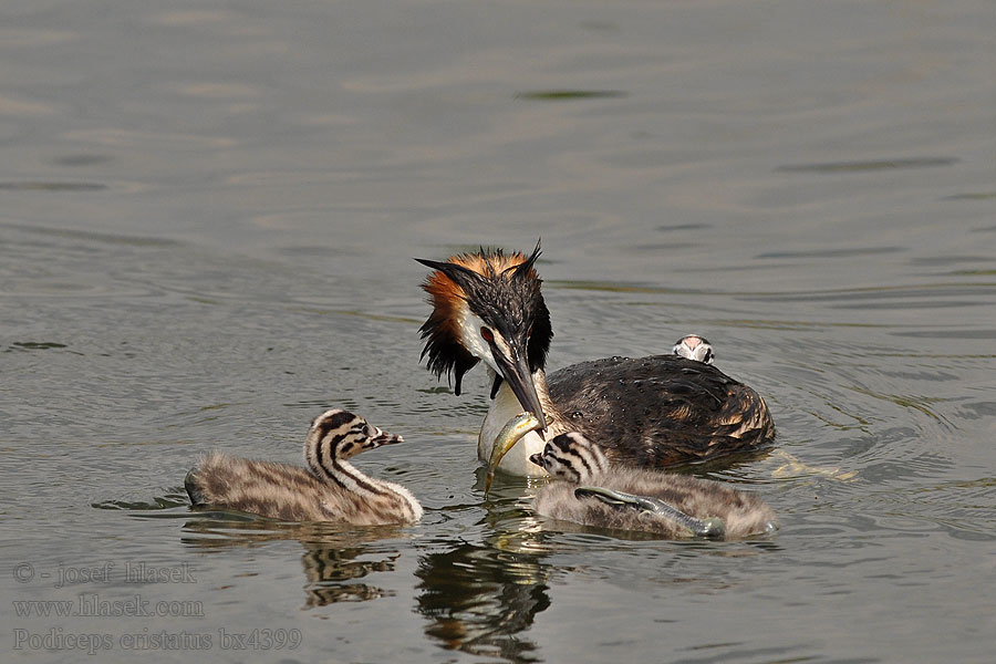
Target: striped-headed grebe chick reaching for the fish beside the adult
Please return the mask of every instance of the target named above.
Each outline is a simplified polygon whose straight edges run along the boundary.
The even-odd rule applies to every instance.
[[[536,512],[552,519],[672,538],[732,539],[778,528],[775,512],[751,494],[661,470],[611,468],[602,450],[578,433],[560,434],[530,458],[563,480],[536,497]]]

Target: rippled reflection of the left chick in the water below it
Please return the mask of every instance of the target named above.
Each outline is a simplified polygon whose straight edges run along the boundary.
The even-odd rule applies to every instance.
[[[343,529],[326,523],[280,523],[251,516],[210,512],[203,519],[187,521],[184,529],[194,533],[184,537],[184,543],[208,551],[297,539],[304,548],[301,566],[305,580],[304,605],[309,609],[394,594],[357,580],[373,572],[394,570],[400,551],[364,544],[402,537],[398,528]],[[373,560],[359,560],[361,557]]]

